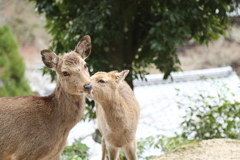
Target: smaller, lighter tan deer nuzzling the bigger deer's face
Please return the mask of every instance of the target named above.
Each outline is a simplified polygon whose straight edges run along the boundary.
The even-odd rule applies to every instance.
[[[106,149],[110,160],[116,160],[120,148],[129,160],[137,159],[136,130],[140,107],[124,81],[128,72],[97,72],[91,77],[93,91],[87,96],[96,105],[98,129],[102,134],[102,160]]]

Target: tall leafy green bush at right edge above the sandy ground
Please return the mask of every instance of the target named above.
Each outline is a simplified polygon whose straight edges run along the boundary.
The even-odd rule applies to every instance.
[[[182,136],[194,140],[240,139],[240,102],[236,94],[226,84],[213,81],[212,85],[217,93],[199,90],[191,96],[181,95],[178,105],[186,108]]]

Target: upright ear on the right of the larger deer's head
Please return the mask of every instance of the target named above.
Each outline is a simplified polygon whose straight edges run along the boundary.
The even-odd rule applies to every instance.
[[[80,54],[83,59],[86,59],[90,55],[91,49],[91,37],[86,35],[78,42],[74,51]]]

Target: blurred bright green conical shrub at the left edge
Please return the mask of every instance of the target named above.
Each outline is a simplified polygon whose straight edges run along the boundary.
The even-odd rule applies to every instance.
[[[24,77],[25,65],[9,26],[0,27],[0,97],[32,94]]]

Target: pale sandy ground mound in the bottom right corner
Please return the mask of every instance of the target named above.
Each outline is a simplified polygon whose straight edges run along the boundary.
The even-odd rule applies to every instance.
[[[194,142],[152,160],[240,160],[240,141],[212,139]]]

